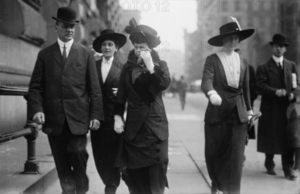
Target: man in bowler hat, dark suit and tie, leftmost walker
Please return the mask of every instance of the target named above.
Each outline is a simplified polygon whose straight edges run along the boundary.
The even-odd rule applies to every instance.
[[[58,38],[37,55],[27,116],[48,135],[62,193],[85,193],[86,133],[104,120],[101,90],[91,51],[73,39],[76,11],[60,7],[52,18]]]

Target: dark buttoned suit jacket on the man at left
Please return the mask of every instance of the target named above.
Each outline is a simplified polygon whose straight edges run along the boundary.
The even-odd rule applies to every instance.
[[[65,64],[58,43],[39,51],[29,83],[27,116],[45,114],[42,131],[58,135],[67,119],[73,134],[86,134],[90,119],[103,120],[101,90],[90,50],[73,42]]]

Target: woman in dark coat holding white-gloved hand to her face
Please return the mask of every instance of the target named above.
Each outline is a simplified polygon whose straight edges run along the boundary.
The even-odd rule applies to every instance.
[[[130,34],[134,49],[121,72],[114,111],[115,131],[123,131],[117,164],[127,170],[130,193],[163,193],[167,186],[168,122],[162,90],[168,87],[170,75],[166,62],[153,50],[160,43],[153,28],[137,25],[132,18],[125,32]]]

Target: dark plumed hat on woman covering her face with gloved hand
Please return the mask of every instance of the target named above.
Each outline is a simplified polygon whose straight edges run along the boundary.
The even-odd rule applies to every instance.
[[[150,48],[160,44],[160,37],[157,36],[157,31],[147,25],[137,25],[133,17],[129,20],[129,25],[125,27],[124,31],[130,34],[129,39],[132,43],[147,42]]]

